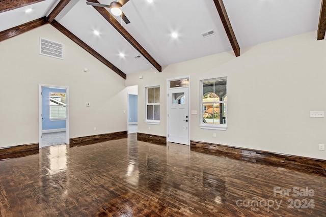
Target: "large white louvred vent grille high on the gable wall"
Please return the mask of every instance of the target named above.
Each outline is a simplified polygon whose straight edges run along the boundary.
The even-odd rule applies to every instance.
[[[63,59],[63,44],[40,38],[40,54]]]

